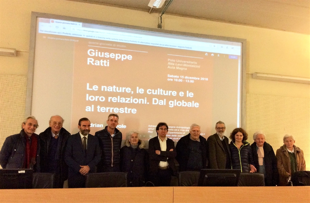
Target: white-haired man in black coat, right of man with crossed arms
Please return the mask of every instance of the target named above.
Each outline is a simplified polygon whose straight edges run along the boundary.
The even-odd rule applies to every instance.
[[[179,171],[200,171],[208,165],[207,140],[200,135],[200,126],[192,124],[189,134],[182,137],[176,144],[176,160]]]

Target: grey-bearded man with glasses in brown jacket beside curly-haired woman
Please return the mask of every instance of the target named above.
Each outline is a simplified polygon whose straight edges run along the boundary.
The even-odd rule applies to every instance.
[[[231,169],[230,151],[228,138],[224,136],[225,123],[219,121],[215,124],[214,135],[208,137],[209,146],[209,168]]]

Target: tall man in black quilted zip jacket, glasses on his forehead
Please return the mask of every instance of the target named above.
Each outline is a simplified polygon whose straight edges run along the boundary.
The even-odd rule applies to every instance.
[[[101,149],[101,160],[97,166],[97,172],[120,172],[120,149],[122,145],[122,132],[116,127],[118,115],[109,114],[108,126],[95,133]]]

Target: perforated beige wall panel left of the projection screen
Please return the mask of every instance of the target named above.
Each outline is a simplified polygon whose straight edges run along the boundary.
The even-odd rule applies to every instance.
[[[25,116],[26,76],[0,75],[0,148],[7,136],[20,132]]]

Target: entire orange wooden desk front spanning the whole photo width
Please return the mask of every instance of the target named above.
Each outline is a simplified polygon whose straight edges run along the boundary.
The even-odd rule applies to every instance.
[[[304,187],[143,187],[0,190],[0,203],[309,203]]]

